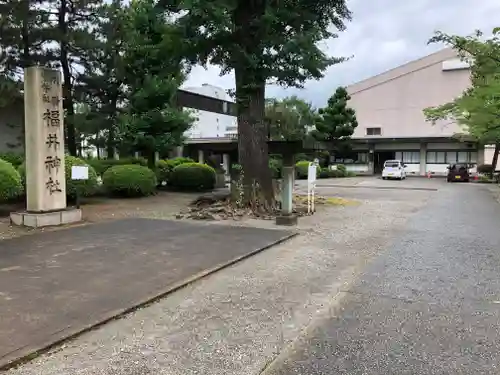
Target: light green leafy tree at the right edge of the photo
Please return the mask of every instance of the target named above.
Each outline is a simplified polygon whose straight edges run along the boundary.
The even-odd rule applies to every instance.
[[[478,31],[466,37],[437,33],[430,42],[448,44],[470,63],[471,86],[449,103],[426,108],[426,119],[456,121],[482,144],[495,144],[495,168],[500,145],[500,29],[486,40]]]

